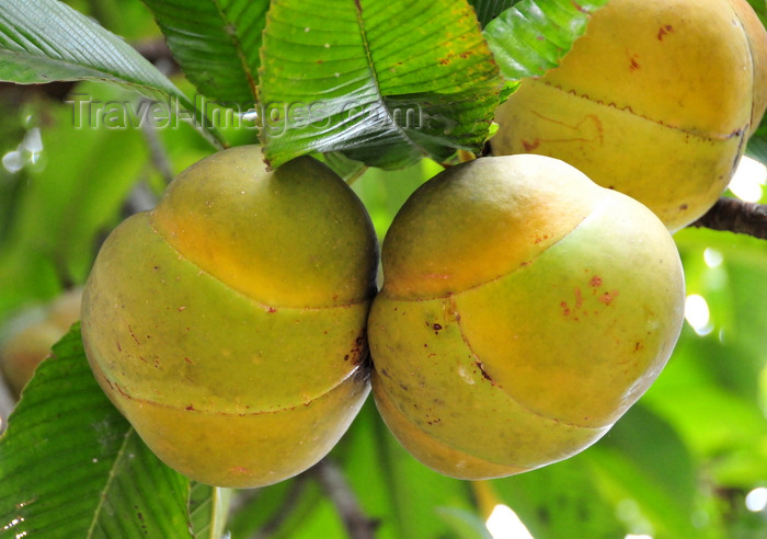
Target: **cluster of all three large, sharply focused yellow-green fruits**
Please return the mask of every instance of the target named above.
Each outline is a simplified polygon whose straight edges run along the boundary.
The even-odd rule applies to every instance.
[[[380,290],[369,217],[329,168],[216,153],[104,243],[83,296],[92,369],[161,459],[216,485],[312,466],[370,388],[442,473],[564,459],[668,359],[685,297],[669,231],[726,186],[766,70],[745,0],[611,0],[499,110],[493,157],[413,193]]]

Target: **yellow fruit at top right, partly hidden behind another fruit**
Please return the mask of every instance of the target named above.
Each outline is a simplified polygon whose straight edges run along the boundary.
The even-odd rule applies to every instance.
[[[745,0],[610,0],[499,107],[491,145],[562,159],[676,231],[725,190],[765,106],[767,32]]]

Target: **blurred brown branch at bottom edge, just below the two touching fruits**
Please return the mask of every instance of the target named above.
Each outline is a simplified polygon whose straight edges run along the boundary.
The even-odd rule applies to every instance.
[[[348,537],[352,539],[375,539],[378,521],[368,518],[363,513],[357,497],[335,463],[324,458],[314,465],[312,472],[328,497],[335,505]]]

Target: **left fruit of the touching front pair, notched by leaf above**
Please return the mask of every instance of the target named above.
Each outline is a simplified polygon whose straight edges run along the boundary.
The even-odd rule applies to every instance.
[[[322,458],[369,392],[378,246],[365,207],[310,157],[267,171],[236,147],[121,223],[85,285],[82,337],[106,394],[203,483],[278,482]]]

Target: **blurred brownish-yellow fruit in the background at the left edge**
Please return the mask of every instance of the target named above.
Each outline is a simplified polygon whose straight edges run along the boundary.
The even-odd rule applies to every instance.
[[[0,371],[15,397],[30,381],[37,365],[80,318],[82,289],[62,293],[53,301],[15,316],[0,337]]]

